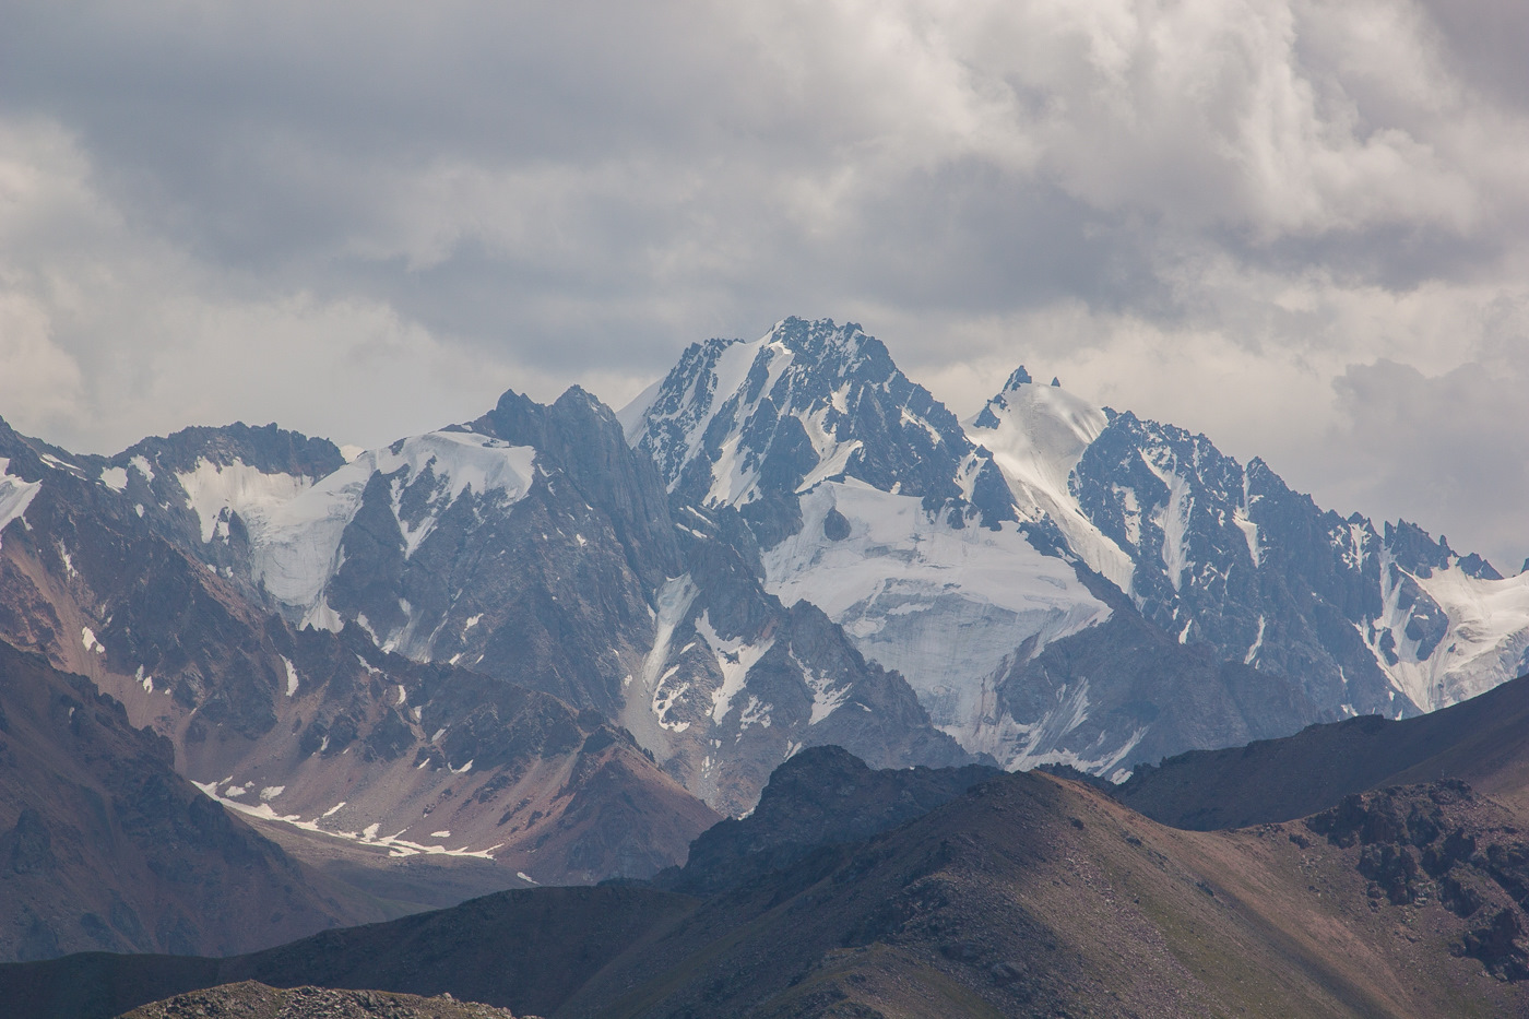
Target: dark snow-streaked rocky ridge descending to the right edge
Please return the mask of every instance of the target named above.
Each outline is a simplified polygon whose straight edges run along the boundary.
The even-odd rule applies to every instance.
[[[1320,510],[1205,436],[1113,415],[1070,482],[1130,557],[1144,617],[1229,661],[1301,676],[1326,711],[1434,710],[1518,675],[1529,578],[1420,528]]]

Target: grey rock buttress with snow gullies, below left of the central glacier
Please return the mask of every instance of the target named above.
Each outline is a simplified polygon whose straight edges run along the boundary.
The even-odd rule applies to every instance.
[[[878,767],[971,759],[821,609],[787,609],[760,584],[740,514],[682,506],[679,519],[687,572],[657,592],[657,636],[621,716],[670,774],[739,814],[803,747],[844,745]]]

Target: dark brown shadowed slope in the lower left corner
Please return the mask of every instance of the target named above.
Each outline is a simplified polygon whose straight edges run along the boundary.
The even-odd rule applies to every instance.
[[[0,643],[0,955],[248,952],[379,913],[174,773],[121,702]]]

